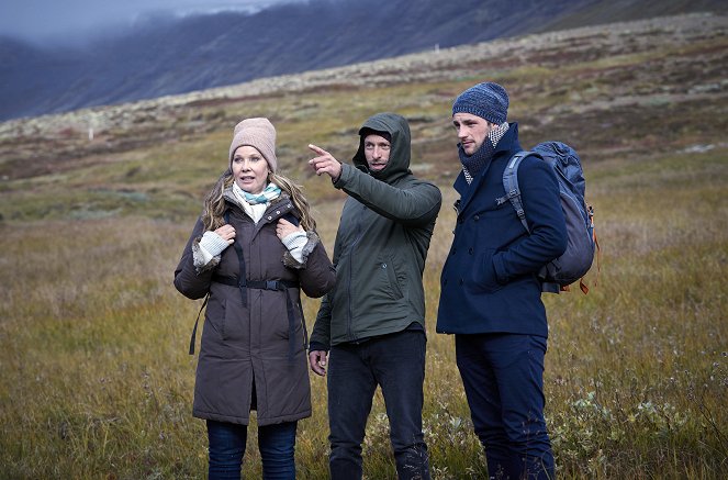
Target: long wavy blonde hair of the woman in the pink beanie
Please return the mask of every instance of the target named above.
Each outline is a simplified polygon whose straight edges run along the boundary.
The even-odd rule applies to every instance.
[[[223,194],[234,181],[233,170],[228,168],[220,176],[215,186],[205,196],[202,208],[202,223],[204,224],[205,231],[214,231],[225,224],[223,215],[227,206],[225,205],[225,198]],[[268,181],[276,183],[282,191],[291,197],[293,206],[295,206],[301,213],[301,226],[303,226],[303,230],[306,232],[315,231],[316,222],[313,220],[313,216],[311,216],[311,206],[309,205],[306,198],[303,196],[301,187],[293,183],[289,178],[272,172],[268,174]]]

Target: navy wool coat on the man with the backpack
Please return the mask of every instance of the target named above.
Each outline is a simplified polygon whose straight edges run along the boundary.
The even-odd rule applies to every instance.
[[[567,248],[567,226],[552,169],[529,156],[518,168],[518,186],[530,234],[506,201],[503,171],[523,148],[512,123],[492,160],[471,185],[460,172],[460,193],[450,253],[440,277],[437,332],[511,333],[548,336],[539,269]]]

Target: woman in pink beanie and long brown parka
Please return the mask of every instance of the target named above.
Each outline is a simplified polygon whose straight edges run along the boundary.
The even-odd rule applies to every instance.
[[[309,202],[277,170],[270,121],[239,122],[175,270],[184,297],[206,297],[192,414],[206,421],[211,480],[240,478],[251,411],[264,478],[295,478],[298,421],[311,416],[300,291],[322,297],[336,277]]]

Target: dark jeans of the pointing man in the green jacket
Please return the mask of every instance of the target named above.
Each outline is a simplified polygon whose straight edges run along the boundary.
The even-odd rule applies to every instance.
[[[390,421],[397,477],[429,479],[422,433],[425,345],[424,332],[404,331],[332,347],[327,378],[333,480],[361,478],[361,443],[378,384]]]

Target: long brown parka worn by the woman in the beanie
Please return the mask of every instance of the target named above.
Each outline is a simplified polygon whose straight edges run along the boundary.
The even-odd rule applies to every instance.
[[[233,246],[223,250],[217,265],[208,265],[202,271],[194,267],[204,233],[198,220],[175,270],[175,287],[184,297],[201,299],[210,294],[192,413],[199,418],[247,425],[255,409],[260,426],[311,416],[307,338],[295,284],[309,297],[322,297],[334,287],[334,267],[314,232],[306,233],[302,264],[276,236],[281,216],[300,217],[287,193],[271,202],[258,224],[237,205],[229,190],[225,199],[235,243],[244,254],[245,278],[258,288],[236,284],[240,261]],[[289,287],[260,288],[265,281],[272,287],[270,281],[275,280]]]

